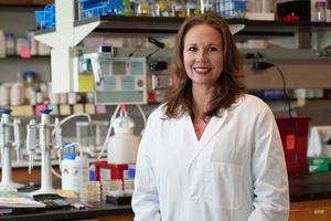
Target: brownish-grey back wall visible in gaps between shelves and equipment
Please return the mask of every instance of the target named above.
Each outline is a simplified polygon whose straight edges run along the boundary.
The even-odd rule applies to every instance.
[[[4,32],[13,32],[15,35],[26,35],[26,30],[36,28],[34,22],[33,8],[0,8],[0,29]],[[270,51],[269,53],[273,53]],[[328,88],[331,87],[331,62],[330,60],[274,60],[284,72],[288,88]],[[254,72],[250,61],[245,61],[245,82],[249,88],[281,88],[281,78],[275,69],[263,72]],[[20,57],[0,59],[0,83],[14,82],[15,73],[33,70],[38,73],[38,78],[41,82],[50,82],[50,57],[40,56],[29,60]],[[157,105],[143,106],[147,115]],[[277,116],[285,115],[286,110],[284,103],[273,104]],[[115,107],[109,107],[107,114],[95,115],[94,119],[108,120]],[[298,115],[308,115],[312,118],[311,125],[331,125],[331,102],[330,99],[307,101],[305,105],[298,107]],[[137,123],[137,133],[142,128],[142,120],[139,112],[135,107],[129,108],[130,116]],[[64,127],[64,135],[75,137],[75,124],[68,124]]]

